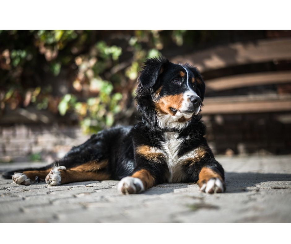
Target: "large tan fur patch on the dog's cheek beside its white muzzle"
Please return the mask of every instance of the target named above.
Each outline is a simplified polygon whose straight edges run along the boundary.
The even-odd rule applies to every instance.
[[[179,110],[182,106],[182,102],[183,94],[164,96],[156,102],[156,108],[160,114],[175,115],[175,112],[173,112],[170,107]]]

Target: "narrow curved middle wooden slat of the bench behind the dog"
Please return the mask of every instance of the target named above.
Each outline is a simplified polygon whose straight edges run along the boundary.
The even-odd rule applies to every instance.
[[[206,88],[213,91],[221,91],[254,85],[281,84],[288,82],[291,82],[291,71],[260,72],[207,80]]]

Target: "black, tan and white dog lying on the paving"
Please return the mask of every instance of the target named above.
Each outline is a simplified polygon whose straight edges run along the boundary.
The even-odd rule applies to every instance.
[[[120,180],[117,189],[123,194],[166,182],[197,182],[202,192],[224,192],[224,169],[204,138],[205,83],[198,69],[150,58],[137,82],[141,121],[135,126],[102,130],[50,165],[3,176],[19,185]]]

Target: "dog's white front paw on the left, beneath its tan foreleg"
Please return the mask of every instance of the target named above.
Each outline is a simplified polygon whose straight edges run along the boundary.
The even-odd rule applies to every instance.
[[[140,179],[127,176],[119,181],[117,190],[120,193],[134,194],[143,192],[145,188]]]

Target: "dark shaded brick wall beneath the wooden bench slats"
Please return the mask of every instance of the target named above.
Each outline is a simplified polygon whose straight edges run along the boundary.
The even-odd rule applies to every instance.
[[[206,138],[215,154],[291,153],[291,113],[204,116]]]

